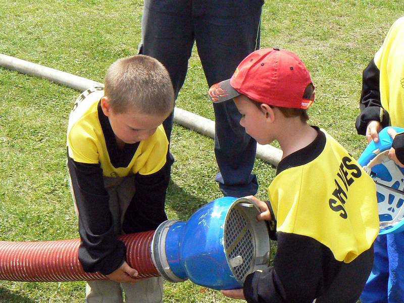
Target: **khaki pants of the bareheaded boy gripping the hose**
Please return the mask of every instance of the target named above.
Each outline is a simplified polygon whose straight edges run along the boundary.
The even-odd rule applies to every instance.
[[[123,178],[104,177],[104,185],[110,195],[110,211],[115,233],[122,234],[122,222],[126,209],[135,193],[134,176]],[[70,188],[72,190],[71,182]],[[73,190],[72,190],[73,193]],[[78,217],[76,200],[74,210]],[[163,298],[163,278],[153,277],[136,283],[118,283],[111,280],[87,281],[87,303],[122,303],[122,291],[126,303],[159,303]]]

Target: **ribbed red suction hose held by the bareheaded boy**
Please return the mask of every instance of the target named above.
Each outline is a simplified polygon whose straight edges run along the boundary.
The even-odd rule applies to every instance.
[[[150,256],[154,231],[119,236],[126,245],[126,262],[138,278],[160,276]],[[0,241],[0,280],[23,282],[64,282],[108,279],[86,273],[78,260],[80,239],[12,242]]]

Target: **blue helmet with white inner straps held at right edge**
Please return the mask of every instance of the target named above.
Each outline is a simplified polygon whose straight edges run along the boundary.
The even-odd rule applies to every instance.
[[[377,203],[379,209],[380,231],[379,234],[397,233],[404,231],[404,169],[397,166],[393,161],[384,156],[379,164],[368,169],[372,160],[383,151],[391,148],[392,138],[387,133],[388,128],[395,129],[398,133],[404,128],[386,127],[379,132],[379,141],[370,142],[365,148],[359,164],[370,173],[376,182]],[[380,157],[379,156],[379,157]]]

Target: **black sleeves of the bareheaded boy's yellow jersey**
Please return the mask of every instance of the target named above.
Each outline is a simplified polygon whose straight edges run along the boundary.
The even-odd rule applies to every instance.
[[[135,176],[135,194],[122,224],[125,233],[154,230],[167,220],[164,201],[169,180],[165,170],[171,163],[153,175]],[[126,249],[114,233],[102,170],[99,165],[78,163],[70,157],[68,166],[79,212],[80,263],[86,272],[110,274],[122,265]]]

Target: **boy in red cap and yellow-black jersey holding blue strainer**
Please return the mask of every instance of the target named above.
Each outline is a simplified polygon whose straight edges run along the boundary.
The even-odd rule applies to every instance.
[[[272,221],[273,266],[222,292],[248,302],[356,302],[379,231],[376,187],[335,139],[307,123],[314,85],[306,66],[284,49],[260,49],[210,96],[234,98],[246,133],[283,150],[270,201],[249,197],[262,210],[257,219]]]

